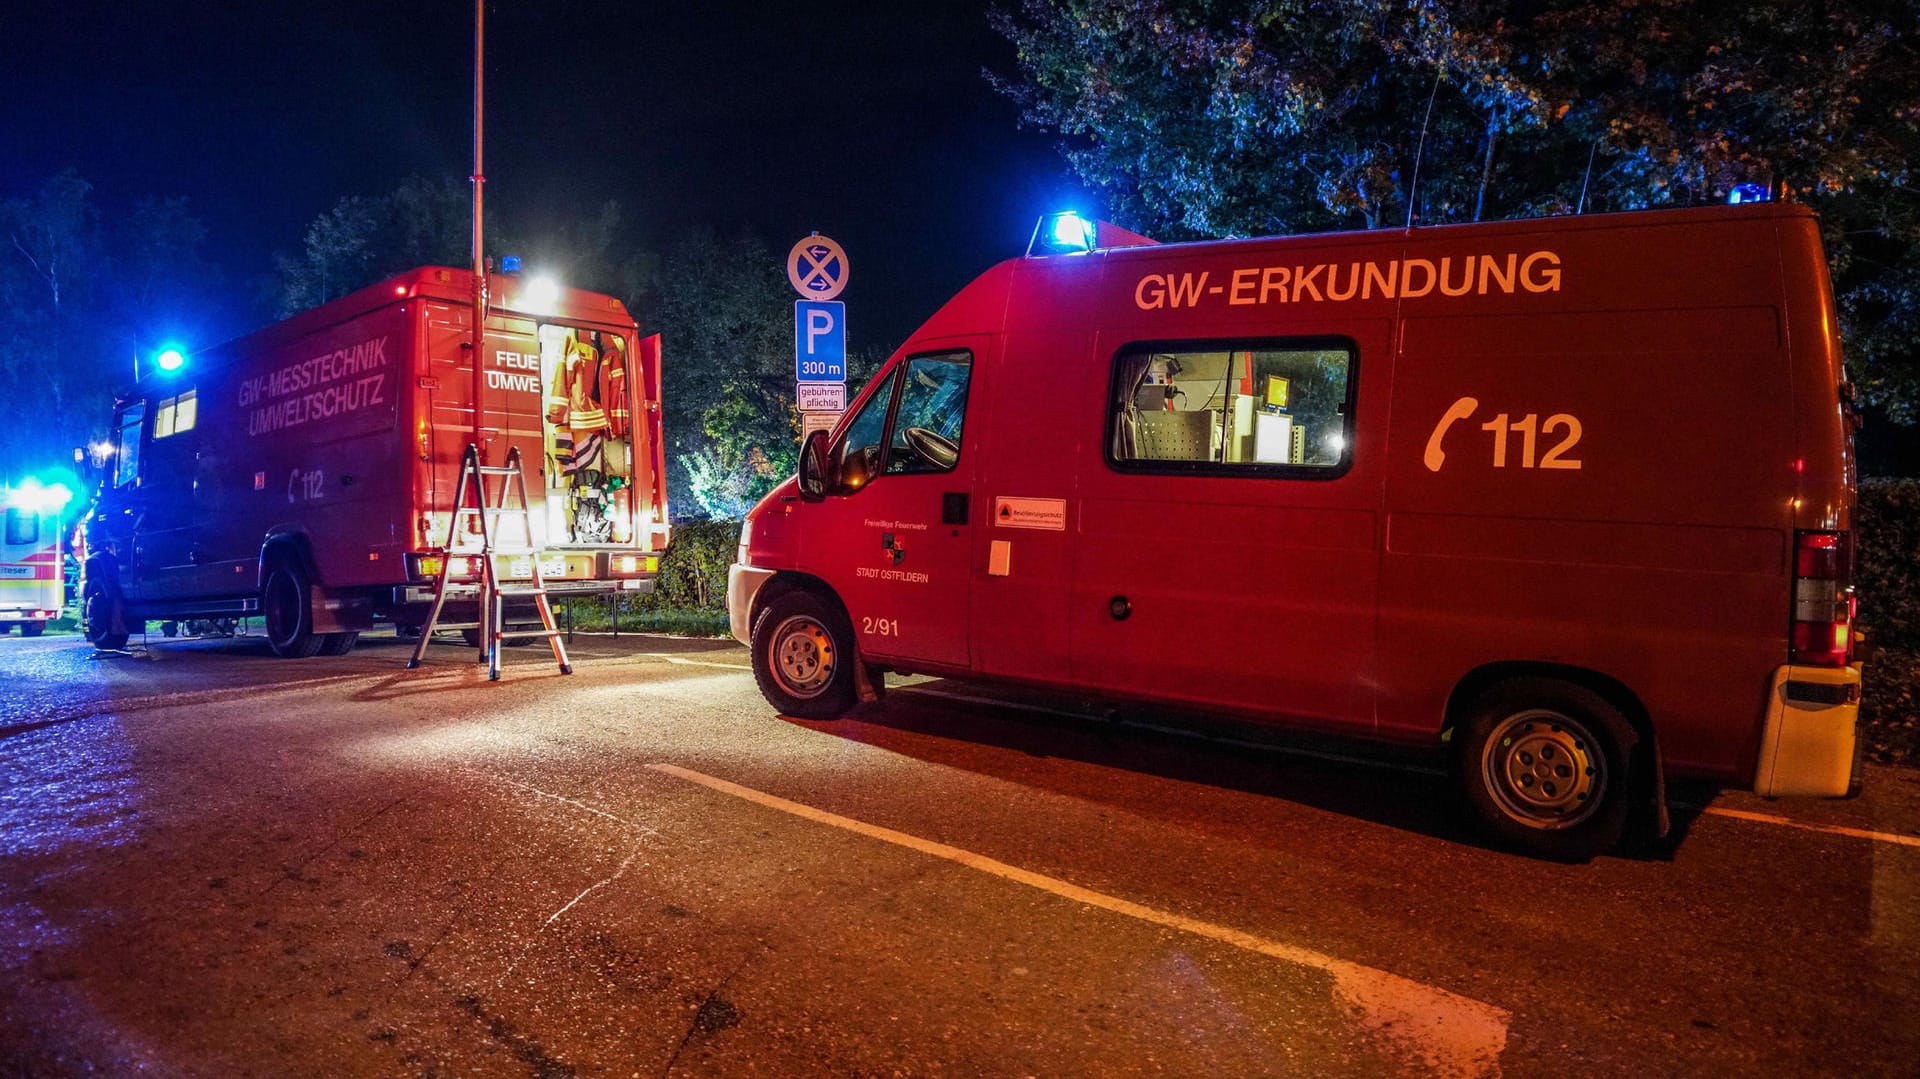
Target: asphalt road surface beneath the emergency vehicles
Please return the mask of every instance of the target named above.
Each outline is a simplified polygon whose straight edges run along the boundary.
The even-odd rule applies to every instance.
[[[1914,772],[1557,866],[1352,747],[432,653],[0,641],[0,1073],[1920,1073]]]

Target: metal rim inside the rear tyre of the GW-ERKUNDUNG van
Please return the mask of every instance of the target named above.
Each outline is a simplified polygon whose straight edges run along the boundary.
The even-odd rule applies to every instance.
[[[1486,741],[1480,766],[1507,816],[1534,827],[1571,827],[1599,808],[1605,756],[1594,735],[1559,712],[1507,716]]]

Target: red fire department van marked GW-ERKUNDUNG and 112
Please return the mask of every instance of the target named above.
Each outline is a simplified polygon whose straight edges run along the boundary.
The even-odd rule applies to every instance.
[[[1108,228],[1043,223],[755,507],[728,601],[774,707],[893,670],[1446,743],[1548,856],[1609,849],[1663,776],[1849,793],[1811,211]]]

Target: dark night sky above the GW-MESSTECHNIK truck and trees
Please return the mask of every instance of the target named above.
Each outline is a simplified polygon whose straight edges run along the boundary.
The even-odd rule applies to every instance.
[[[981,79],[1012,67],[985,8],[490,4],[490,205],[540,227],[616,198],[655,250],[820,228],[852,344],[891,348],[1041,213],[1098,211]],[[470,63],[461,2],[8,4],[0,198],[69,165],[109,213],[186,196],[207,255],[257,280],[340,196],[470,173]]]

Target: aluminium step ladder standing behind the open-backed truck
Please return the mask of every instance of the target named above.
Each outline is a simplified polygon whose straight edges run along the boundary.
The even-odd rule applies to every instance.
[[[488,478],[499,480],[499,486],[492,492]],[[490,493],[495,497],[490,499]],[[518,505],[513,505],[513,501],[518,501]],[[499,534],[501,520],[507,516],[518,518],[522,543],[503,549],[495,543],[495,536]],[[470,528],[463,530],[467,522],[478,522],[480,526],[478,549],[461,545],[461,538],[472,534]],[[520,467],[520,447],[515,445],[507,451],[505,465],[488,467],[480,463],[480,447],[468,444],[467,457],[461,461],[459,484],[453,488],[453,518],[447,522],[447,543],[440,551],[440,572],[434,576],[434,607],[420,626],[420,639],[413,645],[413,659],[407,660],[407,670],[420,666],[420,660],[426,659],[426,645],[432,643],[434,630],[474,630],[480,635],[478,662],[486,664],[490,682],[499,682],[501,643],[528,637],[545,637],[553,645],[553,662],[561,666],[561,674],[572,674],[574,664],[566,659],[566,645],[561,643],[561,628],[553,620],[553,605],[547,603],[547,580],[540,570],[543,555],[545,551],[534,543],[534,513],[526,501],[526,470]],[[455,559],[467,559],[474,566],[472,584],[453,580]],[[530,584],[503,582],[499,574],[501,559],[526,559],[532,566]],[[440,622],[447,595],[465,595],[468,591],[472,591],[480,620]],[[540,611],[540,630],[505,628],[507,601],[516,597],[534,599],[534,607]]]

